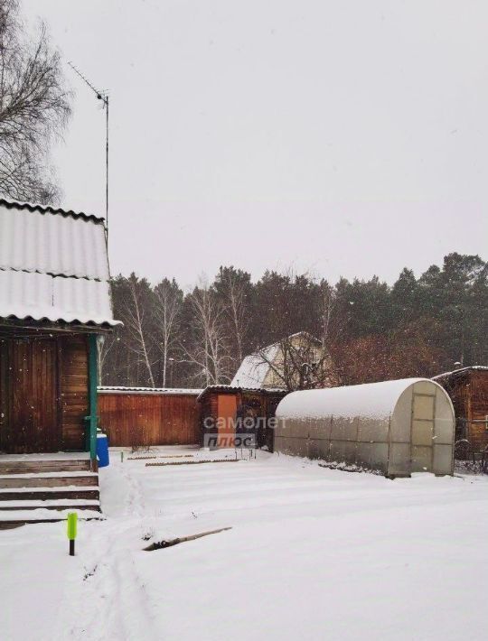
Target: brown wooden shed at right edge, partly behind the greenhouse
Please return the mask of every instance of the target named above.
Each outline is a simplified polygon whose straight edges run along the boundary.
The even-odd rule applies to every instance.
[[[456,441],[466,439],[474,452],[488,447],[488,367],[460,367],[434,376],[455,408]]]

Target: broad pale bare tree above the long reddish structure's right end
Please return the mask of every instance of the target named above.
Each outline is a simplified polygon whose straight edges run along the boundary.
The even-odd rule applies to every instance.
[[[182,362],[196,368],[196,376],[205,385],[229,382],[228,369],[232,358],[229,354],[228,339],[224,331],[224,310],[206,283],[195,288],[191,294],[192,344],[183,344]]]

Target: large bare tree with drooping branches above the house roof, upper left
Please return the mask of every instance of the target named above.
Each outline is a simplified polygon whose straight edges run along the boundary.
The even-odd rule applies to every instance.
[[[24,33],[17,0],[0,0],[0,192],[47,203],[59,198],[47,154],[70,116],[70,91],[45,25],[34,42]]]

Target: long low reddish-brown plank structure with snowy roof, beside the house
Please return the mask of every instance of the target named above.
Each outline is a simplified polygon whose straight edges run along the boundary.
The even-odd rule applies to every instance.
[[[99,421],[113,447],[192,445],[200,438],[201,389],[99,387]]]

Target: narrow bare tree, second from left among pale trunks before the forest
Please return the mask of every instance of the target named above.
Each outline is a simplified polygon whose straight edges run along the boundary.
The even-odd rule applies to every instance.
[[[158,346],[162,353],[164,387],[166,386],[169,356],[178,342],[182,302],[182,292],[174,281],[171,282],[165,278],[164,281],[156,285],[155,323],[159,335]]]

